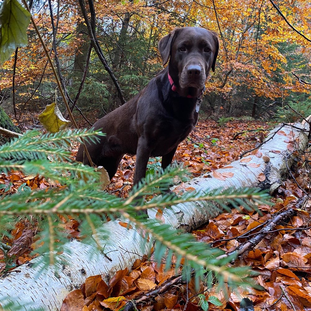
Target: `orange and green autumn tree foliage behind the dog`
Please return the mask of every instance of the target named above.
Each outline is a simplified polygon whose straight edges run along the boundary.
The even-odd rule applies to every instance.
[[[292,74],[306,80],[311,74],[308,13],[311,4],[307,1],[98,0],[89,3],[95,9],[97,39],[125,100],[161,69],[157,43],[174,27],[181,26],[204,27],[216,31],[220,37],[216,72],[206,85],[206,108],[230,114],[250,114],[253,109],[253,116],[258,117],[288,102],[304,102],[309,96],[310,87],[299,83]],[[91,20],[89,3],[85,8]],[[72,101],[88,63],[77,107],[105,114],[118,106],[111,76],[94,49],[90,49],[79,2],[35,1],[31,2],[31,10]],[[27,48],[18,49],[16,59],[12,55],[1,68],[2,101],[12,102],[15,73],[17,110],[25,103],[33,108],[39,102],[51,102],[55,93],[53,75],[31,25],[28,40]]]

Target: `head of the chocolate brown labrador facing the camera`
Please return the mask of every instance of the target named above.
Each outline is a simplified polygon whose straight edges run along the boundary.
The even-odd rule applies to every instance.
[[[159,51],[174,83],[182,89],[203,89],[210,72],[215,71],[218,35],[198,27],[175,28],[159,41]]]

